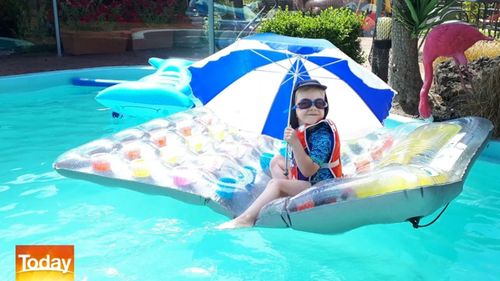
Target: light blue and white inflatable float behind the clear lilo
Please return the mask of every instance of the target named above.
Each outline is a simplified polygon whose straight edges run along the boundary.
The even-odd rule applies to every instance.
[[[151,58],[154,74],[139,81],[113,85],[99,92],[97,102],[119,115],[136,117],[167,116],[194,107],[197,102],[187,70],[192,61]],[[114,114],[116,115],[116,114]]]

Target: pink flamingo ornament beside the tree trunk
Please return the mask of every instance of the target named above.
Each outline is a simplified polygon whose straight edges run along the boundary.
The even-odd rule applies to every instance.
[[[432,85],[433,67],[432,63],[438,57],[452,57],[455,64],[459,67],[467,67],[467,58],[465,50],[469,49],[477,41],[493,40],[483,35],[472,25],[463,22],[444,23],[434,27],[425,40],[423,51],[424,64],[424,84],[420,90],[420,103],[418,111],[420,117],[424,119],[431,118],[431,108],[429,106],[429,89]],[[462,80],[463,85],[463,80]]]

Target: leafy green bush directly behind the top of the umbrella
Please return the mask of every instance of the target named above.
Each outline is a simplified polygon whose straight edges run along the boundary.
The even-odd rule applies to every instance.
[[[319,15],[299,11],[278,10],[273,18],[259,26],[259,32],[303,38],[323,38],[358,63],[364,62],[358,37],[361,34],[362,16],[347,8],[328,8]]]

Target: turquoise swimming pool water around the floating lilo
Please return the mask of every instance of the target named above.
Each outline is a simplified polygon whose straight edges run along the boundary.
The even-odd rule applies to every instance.
[[[474,164],[432,226],[365,226],[341,235],[216,231],[209,208],[64,178],[64,151],[141,123],[112,120],[95,89],[69,77],[134,79],[142,68],[0,78],[0,280],[16,245],[75,245],[75,280],[496,280],[500,146]],[[120,75],[119,77],[114,77]],[[94,77],[92,77],[94,76]],[[429,221],[429,218],[424,222]]]

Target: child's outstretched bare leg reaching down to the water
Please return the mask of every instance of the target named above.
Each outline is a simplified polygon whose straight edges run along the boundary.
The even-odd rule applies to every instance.
[[[224,223],[219,228],[238,228],[253,226],[255,219],[259,215],[260,209],[274,199],[283,195],[297,195],[311,187],[311,183],[299,180],[272,179],[266,189],[255,199],[255,201],[241,215],[232,221]]]

